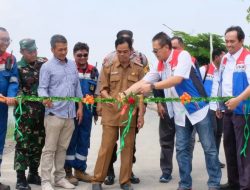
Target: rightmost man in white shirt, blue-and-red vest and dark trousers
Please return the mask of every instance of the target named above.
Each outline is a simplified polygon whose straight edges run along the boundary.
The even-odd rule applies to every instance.
[[[220,65],[221,96],[238,96],[250,84],[250,52],[243,47],[245,34],[239,26],[225,32],[228,53]],[[223,118],[224,150],[227,162],[228,183],[221,189],[250,189],[250,151],[241,155],[246,139],[245,116],[249,112],[249,101],[242,101],[234,110],[225,110]],[[247,121],[249,123],[249,120]],[[248,142],[249,146],[249,142]]]

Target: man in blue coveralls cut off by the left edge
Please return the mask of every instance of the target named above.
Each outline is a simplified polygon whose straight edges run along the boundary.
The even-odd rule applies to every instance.
[[[7,53],[10,45],[10,36],[8,31],[0,27],[0,97],[7,96],[5,103],[0,102],[0,166],[2,164],[3,148],[7,131],[8,106],[15,105],[18,90],[18,70],[16,58]],[[0,174],[1,175],[1,174]],[[0,190],[9,190],[10,186],[0,183]]]

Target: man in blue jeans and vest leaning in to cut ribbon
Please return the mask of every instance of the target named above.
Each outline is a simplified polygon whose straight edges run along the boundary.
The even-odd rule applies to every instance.
[[[130,92],[146,93],[153,89],[167,88],[167,97],[180,97],[184,92],[191,96],[204,96],[201,77],[194,69],[191,56],[187,51],[172,50],[171,39],[163,32],[156,34],[152,40],[153,52],[162,61],[162,81],[158,71],[150,71],[141,81],[127,89]],[[192,79],[192,80],[191,80]],[[123,93],[123,94],[124,94]],[[213,129],[209,118],[207,102],[193,102],[182,105],[173,102],[176,129],[176,156],[179,165],[180,182],[178,190],[192,188],[192,155],[190,139],[194,126],[197,130],[206,157],[209,175],[209,190],[219,189],[221,170],[216,150]]]

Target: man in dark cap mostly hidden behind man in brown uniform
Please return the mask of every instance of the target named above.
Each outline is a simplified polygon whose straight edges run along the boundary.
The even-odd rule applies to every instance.
[[[130,30],[121,30],[121,31],[119,31],[117,33],[116,37],[117,37],[117,39],[120,38],[120,37],[129,38],[129,39],[132,40],[132,43],[134,41],[133,40],[133,32],[130,31]],[[104,66],[112,65],[113,61],[116,58],[117,58],[116,51],[111,52],[110,54],[108,54],[104,58],[103,65]],[[134,63],[142,65],[143,68],[144,68],[145,73],[147,73],[149,71],[149,65],[148,65],[147,57],[143,53],[141,53],[139,51],[136,51],[133,47],[132,47],[132,53],[130,55],[130,60],[132,62],[134,62]],[[136,134],[137,133],[138,133],[138,129],[136,128]],[[115,145],[115,148],[114,148],[114,151],[113,151],[113,154],[112,154],[112,158],[111,158],[111,162],[110,162],[110,165],[109,165],[107,177],[106,177],[106,179],[104,181],[104,183],[106,185],[113,185],[114,182],[115,182],[114,181],[115,180],[115,172],[114,172],[114,166],[113,165],[117,160],[116,151],[117,151],[117,143]],[[134,145],[133,164],[136,162],[135,152],[136,152],[136,146]],[[133,184],[140,183],[140,179],[136,175],[134,175],[134,172],[132,172],[130,180],[131,180],[131,183],[133,183]]]

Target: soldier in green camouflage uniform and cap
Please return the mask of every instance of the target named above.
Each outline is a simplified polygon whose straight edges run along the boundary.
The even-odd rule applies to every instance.
[[[23,39],[20,41],[20,52],[23,55],[18,62],[19,95],[38,96],[39,71],[46,58],[37,57],[35,40]],[[22,103],[22,115],[15,131],[16,149],[14,169],[17,172],[16,189],[29,190],[29,184],[41,185],[38,167],[45,140],[44,112],[41,102],[25,101]],[[15,113],[15,117],[20,115]],[[26,180],[25,170],[29,167]]]

